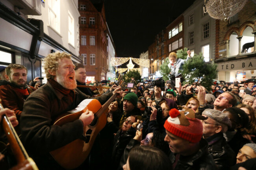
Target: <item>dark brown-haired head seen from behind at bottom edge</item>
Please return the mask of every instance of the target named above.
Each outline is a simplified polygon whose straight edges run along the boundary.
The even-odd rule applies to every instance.
[[[171,170],[170,159],[158,148],[138,146],[131,150],[124,170]]]

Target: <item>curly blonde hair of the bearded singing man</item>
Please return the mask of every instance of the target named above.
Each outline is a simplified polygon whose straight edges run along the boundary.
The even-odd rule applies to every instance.
[[[55,78],[55,76],[51,75],[49,73],[49,71],[56,71],[59,67],[58,60],[63,59],[63,58],[71,59],[71,54],[66,53],[65,51],[64,52],[57,51],[55,53],[48,54],[45,57],[45,59],[44,59],[45,60],[44,69],[45,69],[45,74],[46,74],[47,79],[54,79]]]

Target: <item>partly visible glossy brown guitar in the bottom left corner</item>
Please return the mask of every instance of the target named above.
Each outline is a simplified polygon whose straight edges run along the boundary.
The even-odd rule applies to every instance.
[[[0,110],[2,109],[4,109],[4,107],[0,104]],[[2,127],[9,141],[11,151],[17,161],[17,165],[13,166],[11,170],[38,170],[33,159],[28,156],[9,118],[6,115],[2,118]]]

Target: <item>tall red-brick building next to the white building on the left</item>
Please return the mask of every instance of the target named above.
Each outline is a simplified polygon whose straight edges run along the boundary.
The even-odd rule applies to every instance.
[[[79,0],[80,56],[88,80],[106,80],[108,38],[104,3]]]

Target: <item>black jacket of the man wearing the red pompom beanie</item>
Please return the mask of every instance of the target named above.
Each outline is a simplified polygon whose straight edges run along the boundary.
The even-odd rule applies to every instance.
[[[208,152],[208,143],[201,139],[200,149],[190,156],[180,155],[174,170],[217,170],[211,154]]]

